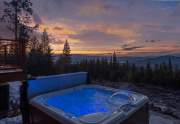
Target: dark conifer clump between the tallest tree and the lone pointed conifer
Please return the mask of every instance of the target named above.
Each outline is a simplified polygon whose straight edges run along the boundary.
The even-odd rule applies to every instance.
[[[42,38],[34,36],[29,42],[28,72],[33,75],[47,75],[53,72],[53,60],[47,31],[42,33]]]

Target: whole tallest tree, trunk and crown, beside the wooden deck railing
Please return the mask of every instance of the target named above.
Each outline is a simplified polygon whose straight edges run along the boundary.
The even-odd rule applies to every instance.
[[[25,70],[26,45],[29,40],[29,32],[36,27],[28,26],[32,21],[32,3],[30,0],[4,1],[5,9],[1,21],[8,23],[7,28],[15,35],[17,42],[18,63]]]

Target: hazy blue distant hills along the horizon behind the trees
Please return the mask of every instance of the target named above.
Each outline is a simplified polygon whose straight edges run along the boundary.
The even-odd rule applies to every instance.
[[[59,55],[54,55],[54,62],[57,61]],[[97,60],[97,59],[107,59],[111,61],[111,56],[96,56],[96,55],[72,55],[72,63],[77,63],[82,60]],[[118,62],[125,63],[128,61],[130,64],[136,64],[139,66],[146,66],[147,63],[151,63],[152,66],[155,64],[168,64],[169,59],[171,59],[173,67],[180,68],[180,55],[164,55],[164,56],[133,56],[133,57],[117,57]]]

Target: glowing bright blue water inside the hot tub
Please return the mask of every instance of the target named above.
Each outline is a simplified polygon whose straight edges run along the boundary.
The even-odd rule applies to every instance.
[[[50,97],[46,104],[75,117],[99,112],[107,113],[117,110],[117,106],[108,102],[113,93],[113,91],[100,88],[82,88]],[[128,102],[126,98],[119,100],[122,103]]]

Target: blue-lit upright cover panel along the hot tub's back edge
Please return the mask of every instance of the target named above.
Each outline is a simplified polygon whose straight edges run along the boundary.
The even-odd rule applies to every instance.
[[[87,72],[38,77],[28,81],[28,98],[88,83]]]

